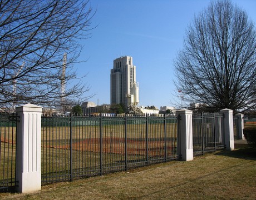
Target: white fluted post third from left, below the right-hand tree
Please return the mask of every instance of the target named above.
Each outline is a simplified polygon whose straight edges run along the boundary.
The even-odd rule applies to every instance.
[[[224,114],[224,138],[225,146],[229,151],[234,150],[234,125],[233,111],[230,109],[222,109],[220,113]]]

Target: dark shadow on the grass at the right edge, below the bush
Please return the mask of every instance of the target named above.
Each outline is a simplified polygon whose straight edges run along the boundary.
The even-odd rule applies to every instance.
[[[256,161],[256,147],[248,145],[242,148],[236,148],[234,151],[221,151],[215,153],[215,155],[243,158]]]

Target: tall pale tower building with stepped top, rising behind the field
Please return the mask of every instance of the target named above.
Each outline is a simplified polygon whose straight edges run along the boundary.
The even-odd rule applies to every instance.
[[[110,74],[110,103],[130,104],[139,103],[139,84],[136,83],[136,66],[132,64],[132,57],[124,56],[114,60],[114,67]]]

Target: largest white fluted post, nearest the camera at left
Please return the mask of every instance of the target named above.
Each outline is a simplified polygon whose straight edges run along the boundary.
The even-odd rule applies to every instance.
[[[16,180],[18,192],[41,190],[41,114],[42,107],[26,104],[16,108]]]

